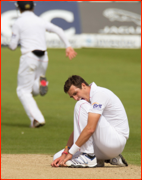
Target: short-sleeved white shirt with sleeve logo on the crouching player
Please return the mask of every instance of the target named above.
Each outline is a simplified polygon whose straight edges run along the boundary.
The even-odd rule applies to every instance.
[[[112,91],[99,87],[94,82],[90,86],[89,112],[102,114],[110,125],[127,139],[129,137],[128,118],[120,99]]]

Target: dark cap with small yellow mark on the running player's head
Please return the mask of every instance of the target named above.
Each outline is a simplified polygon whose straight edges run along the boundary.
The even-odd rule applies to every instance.
[[[22,11],[32,10],[34,7],[33,1],[17,1],[18,8]]]

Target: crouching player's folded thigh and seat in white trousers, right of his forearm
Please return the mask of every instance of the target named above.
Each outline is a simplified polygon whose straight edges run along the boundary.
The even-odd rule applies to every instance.
[[[126,138],[101,116],[93,133],[94,151],[98,159],[110,159],[118,156],[124,149]]]

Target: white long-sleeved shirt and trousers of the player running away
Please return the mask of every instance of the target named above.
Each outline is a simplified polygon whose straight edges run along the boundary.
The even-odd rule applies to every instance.
[[[22,56],[18,70],[17,95],[31,120],[31,124],[34,119],[40,123],[45,122],[32,94],[39,94],[39,77],[45,75],[48,66],[46,31],[56,33],[66,48],[70,46],[60,27],[46,22],[32,11],[24,11],[15,21],[9,44],[9,48],[12,50],[17,48],[18,43],[21,44]],[[38,57],[32,53],[33,50],[45,51],[45,54]]]

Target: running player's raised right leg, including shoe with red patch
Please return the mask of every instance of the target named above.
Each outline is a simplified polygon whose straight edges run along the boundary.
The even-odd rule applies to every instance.
[[[48,91],[48,81],[45,77],[47,67],[48,67],[48,56],[47,56],[47,52],[45,52],[45,55],[39,57],[39,66],[35,71],[35,79],[32,87],[32,94],[34,96],[37,96],[38,94],[43,96]]]

